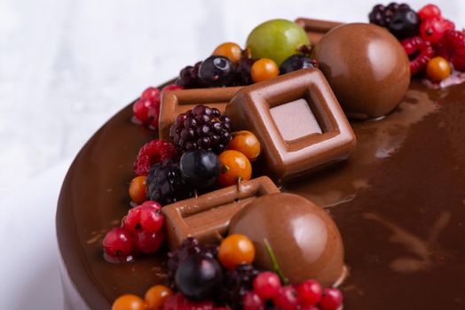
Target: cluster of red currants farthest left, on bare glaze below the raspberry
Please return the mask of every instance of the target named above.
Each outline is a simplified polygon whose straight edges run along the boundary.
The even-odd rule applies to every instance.
[[[165,238],[164,221],[162,205],[154,201],[130,209],[121,227],[111,229],[103,239],[106,260],[127,261],[137,252],[156,252]]]

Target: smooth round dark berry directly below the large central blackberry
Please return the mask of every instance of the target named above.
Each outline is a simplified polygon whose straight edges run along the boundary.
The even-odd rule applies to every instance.
[[[213,151],[186,151],[181,157],[180,168],[185,181],[199,188],[207,188],[217,182],[219,160]]]

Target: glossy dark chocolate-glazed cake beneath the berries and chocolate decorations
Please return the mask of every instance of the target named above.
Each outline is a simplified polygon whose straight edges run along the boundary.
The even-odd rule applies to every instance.
[[[297,23],[313,42],[337,25]],[[118,296],[142,296],[167,277],[168,249],[125,264],[102,259],[103,236],[128,211],[138,149],[154,138],[131,115],[129,105],[91,137],[62,186],[57,235],[67,309],[109,309]],[[351,121],[350,159],[280,189],[322,206],[340,230],[349,270],[344,309],[465,308],[463,120],[465,84],[429,89],[413,79],[388,115]]]

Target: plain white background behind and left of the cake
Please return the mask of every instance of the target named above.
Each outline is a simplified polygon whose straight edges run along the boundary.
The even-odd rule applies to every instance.
[[[465,1],[436,3],[465,27]],[[374,4],[0,0],[0,309],[61,308],[60,182],[83,143],[146,86],[206,58],[218,43],[243,45],[266,19],[366,21]]]

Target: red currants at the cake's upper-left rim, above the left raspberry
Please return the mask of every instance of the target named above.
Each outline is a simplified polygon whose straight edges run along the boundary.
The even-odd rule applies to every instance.
[[[183,89],[182,86],[170,84],[162,89],[162,92]],[[161,91],[155,87],[149,87],[142,92],[138,100],[132,105],[134,113],[133,120],[137,123],[147,125],[150,128],[158,129],[158,119],[160,116]]]

